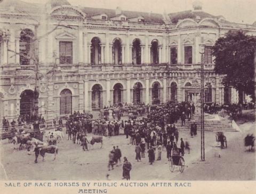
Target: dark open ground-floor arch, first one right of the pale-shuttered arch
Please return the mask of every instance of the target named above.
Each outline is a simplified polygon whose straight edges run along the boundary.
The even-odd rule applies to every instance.
[[[102,87],[96,84],[92,87],[92,110],[102,108]]]

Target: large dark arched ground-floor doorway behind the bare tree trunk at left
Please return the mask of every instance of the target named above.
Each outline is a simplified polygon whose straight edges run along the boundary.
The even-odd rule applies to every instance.
[[[20,95],[20,115],[28,114],[33,115],[34,104],[38,103],[38,98],[35,102],[34,91],[33,90],[24,90]]]

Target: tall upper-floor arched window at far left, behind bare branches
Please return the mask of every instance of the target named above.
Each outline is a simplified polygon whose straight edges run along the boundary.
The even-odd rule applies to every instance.
[[[34,64],[34,33],[29,29],[20,32],[20,64]]]

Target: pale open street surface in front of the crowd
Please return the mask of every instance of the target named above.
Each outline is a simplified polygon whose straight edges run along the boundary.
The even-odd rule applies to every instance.
[[[183,173],[179,172],[178,166],[170,172],[165,148],[161,161],[149,165],[146,153],[142,162],[137,162],[135,147],[125,136],[105,137],[102,149],[100,144],[95,144],[94,149],[89,145],[90,150],[83,151],[80,145],[68,141],[65,134],[58,145],[57,159],[53,161],[54,156],[46,154],[45,162],[39,156],[37,164],[34,163],[34,153],[28,155],[26,150],[14,150],[8,140],[3,140],[0,154],[4,168],[0,166],[0,175],[2,180],[107,180],[109,174],[109,180],[122,180],[122,165],[114,166],[111,171],[107,167],[109,151],[118,146],[122,151],[122,161],[126,156],[132,163],[131,180],[255,180],[255,153],[246,152],[243,142],[247,133],[255,132],[255,123],[246,120],[241,122],[240,128],[241,132],[225,132],[228,148],[222,150],[215,147],[215,133],[206,132],[205,162],[200,161],[200,131],[194,138],[190,138],[188,131],[180,131],[179,139],[188,141],[191,147],[190,154],[186,151],[184,156],[186,167]]]

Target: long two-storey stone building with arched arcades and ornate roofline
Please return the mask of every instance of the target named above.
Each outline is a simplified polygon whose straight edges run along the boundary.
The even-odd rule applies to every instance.
[[[3,0],[0,16],[1,120],[33,111],[35,72],[45,119],[116,103],[195,101],[201,44],[205,102],[237,103],[238,92],[213,71],[211,46],[232,29],[256,35],[255,24],[205,13],[199,2],[193,10],[156,14]]]

